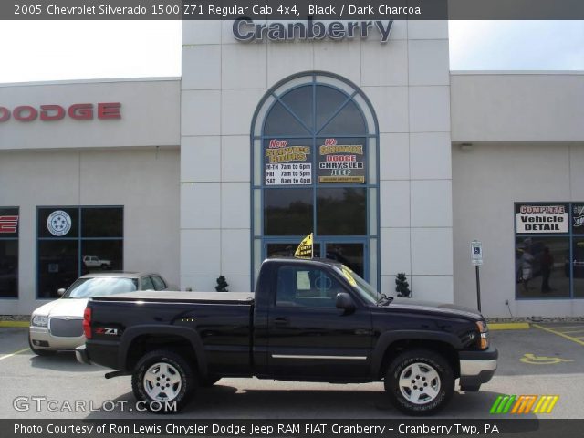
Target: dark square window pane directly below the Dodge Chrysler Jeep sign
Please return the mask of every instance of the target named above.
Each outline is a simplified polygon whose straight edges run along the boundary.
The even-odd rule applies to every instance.
[[[367,235],[365,189],[318,189],[318,235]]]

